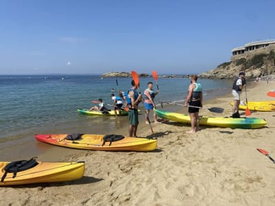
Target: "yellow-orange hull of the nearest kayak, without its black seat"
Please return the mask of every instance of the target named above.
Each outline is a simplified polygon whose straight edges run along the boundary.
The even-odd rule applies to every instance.
[[[5,173],[5,165],[10,162],[0,162],[0,176]],[[41,162],[34,168],[17,172],[14,178],[13,173],[7,173],[7,176],[0,182],[0,185],[25,185],[32,183],[52,183],[61,181],[72,181],[80,179],[85,170],[83,162]]]

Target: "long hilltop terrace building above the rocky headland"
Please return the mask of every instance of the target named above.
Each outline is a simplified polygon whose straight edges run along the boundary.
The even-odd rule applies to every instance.
[[[244,45],[243,47],[236,47],[231,50],[232,56],[239,55],[239,54],[245,54],[246,52],[254,51],[256,49],[266,48],[270,47],[271,45],[275,46],[275,40],[264,40],[264,41],[252,41],[251,43],[248,43]]]

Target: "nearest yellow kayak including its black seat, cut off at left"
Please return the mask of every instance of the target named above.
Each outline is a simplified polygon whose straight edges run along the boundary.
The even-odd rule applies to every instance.
[[[80,179],[85,170],[84,162],[0,162],[0,186],[52,183]],[[18,171],[18,172],[17,172]]]

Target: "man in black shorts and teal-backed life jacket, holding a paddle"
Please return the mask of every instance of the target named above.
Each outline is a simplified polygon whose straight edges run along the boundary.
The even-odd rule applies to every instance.
[[[202,107],[202,87],[201,84],[197,83],[197,75],[193,75],[190,78],[190,85],[188,87],[188,95],[184,106],[188,106],[188,113],[190,115],[191,130],[187,133],[195,133],[196,128],[199,129],[199,108]],[[195,106],[195,107],[192,107]]]

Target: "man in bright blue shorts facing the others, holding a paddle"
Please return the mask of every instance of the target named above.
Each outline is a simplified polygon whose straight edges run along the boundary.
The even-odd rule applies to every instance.
[[[145,123],[146,124],[149,124],[149,113],[150,113],[150,110],[153,109],[153,108],[156,108],[155,106],[155,102],[154,102],[154,98],[155,98],[155,95],[157,95],[159,93],[159,91],[153,91],[153,82],[148,82],[148,88],[145,89],[144,91],[144,107],[146,109],[146,113],[145,113]],[[160,123],[160,122],[157,122],[157,115],[154,113],[154,118],[155,118],[155,124],[157,123]]]

